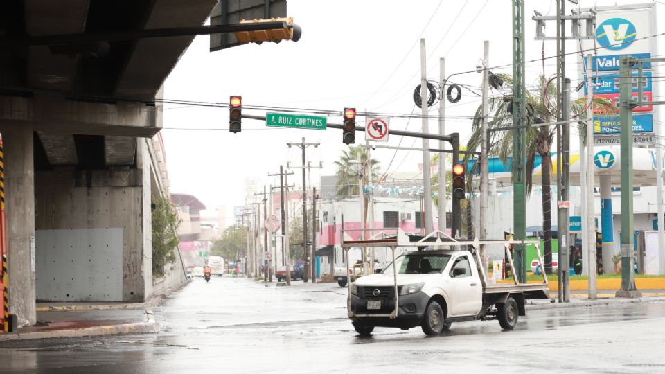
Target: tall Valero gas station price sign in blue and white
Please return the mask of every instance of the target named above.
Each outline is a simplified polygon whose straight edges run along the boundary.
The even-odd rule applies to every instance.
[[[619,108],[619,58],[622,55],[649,58],[657,56],[655,35],[656,17],[655,4],[639,4],[630,6],[612,6],[594,8],[596,13],[595,39],[583,40],[580,43],[580,80],[585,82],[584,94],[588,94],[586,75],[588,70],[594,78],[594,95],[603,97],[617,109]],[[592,66],[586,66],[587,53],[592,53]],[[657,96],[657,87],[652,82],[655,66],[643,64],[644,85],[643,99],[651,100]],[[637,69],[637,66],[635,66]],[[632,73],[637,77],[637,71]],[[632,80],[633,97],[637,96],[637,78]],[[657,119],[657,107],[651,105],[633,109],[632,130],[635,133],[653,132],[653,121]],[[594,134],[619,134],[619,113],[612,116],[594,115]]]

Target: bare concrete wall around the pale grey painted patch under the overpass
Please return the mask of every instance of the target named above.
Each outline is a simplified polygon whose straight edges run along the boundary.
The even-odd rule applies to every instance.
[[[122,294],[108,296],[104,301],[143,301],[146,296],[146,283],[150,284],[152,271],[145,271],[144,237],[145,220],[145,189],[141,186],[141,170],[121,168],[112,170],[76,171],[73,168],[61,168],[55,171],[40,171],[35,173],[35,229],[38,238],[46,238],[39,231],[77,230],[82,239],[77,245],[88,247],[91,253],[100,253],[103,240],[95,235],[98,229],[118,229],[122,232]],[[87,238],[87,239],[85,239]],[[55,244],[55,247],[54,245]],[[80,261],[76,251],[65,250],[60,245],[72,243],[66,241],[37,242],[37,251],[46,250],[56,252],[62,258],[62,263],[72,260]],[[148,247],[150,248],[150,247]],[[37,253],[38,258],[44,256]],[[69,258],[68,258],[69,256]],[[105,258],[92,256],[89,260],[105,260]],[[150,265],[150,264],[149,264]],[[96,266],[101,266],[96,264]],[[67,267],[57,268],[61,273]],[[148,267],[151,270],[150,267]],[[71,277],[70,277],[71,278]],[[146,279],[147,278],[147,279]],[[53,279],[42,278],[37,274],[37,289],[43,290],[42,282],[52,282]],[[83,299],[69,299],[65,295],[77,295],[76,287],[68,286],[66,282],[59,281],[59,294],[53,295],[55,299],[76,301]],[[148,282],[146,282],[148,281]],[[71,292],[67,292],[71,290]],[[90,293],[88,295],[91,295]],[[78,296],[77,296],[78,297]],[[62,298],[62,299],[61,299]],[[94,299],[88,296],[88,299]]]

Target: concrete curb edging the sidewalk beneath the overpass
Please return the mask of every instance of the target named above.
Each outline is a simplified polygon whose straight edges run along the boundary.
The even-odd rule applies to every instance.
[[[152,310],[145,310],[147,315],[144,322],[125,323],[112,326],[95,326],[89,328],[77,328],[73,330],[53,330],[19,333],[0,334],[1,341],[17,341],[32,339],[51,339],[63,337],[90,337],[102,335],[125,335],[125,334],[150,334],[159,332],[159,323],[155,321]]]

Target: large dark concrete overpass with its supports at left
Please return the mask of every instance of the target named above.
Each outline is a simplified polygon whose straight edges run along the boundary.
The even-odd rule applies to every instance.
[[[0,35],[201,26],[215,0],[6,1]],[[193,36],[12,45],[0,53],[10,312],[35,301],[143,301],[151,197],[166,195],[161,87]],[[161,157],[161,159],[160,159]]]

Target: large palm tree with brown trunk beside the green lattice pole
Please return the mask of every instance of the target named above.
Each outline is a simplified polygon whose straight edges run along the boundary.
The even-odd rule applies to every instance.
[[[496,74],[508,84],[512,89],[513,78],[506,74]],[[547,89],[547,92],[545,91]],[[556,98],[556,85],[547,84],[544,75],[540,75],[535,88],[531,91],[528,89],[526,92],[526,105],[527,105],[527,122],[529,125],[538,123],[548,123],[554,120],[556,116],[556,107],[551,108],[551,105],[545,98]],[[603,98],[594,98],[594,109],[604,114],[617,112],[617,109],[608,100]],[[580,132],[585,132],[586,118],[586,98],[578,98],[572,100],[570,103],[571,114],[578,114],[577,118],[580,119],[578,123]],[[505,97],[492,97],[489,100],[489,118],[488,128],[509,127],[513,122],[512,100]],[[468,150],[476,150],[481,143],[481,121],[482,121],[482,106],[480,106],[475,113],[472,123],[473,133],[467,143]],[[572,125],[572,123],[571,123]],[[490,132],[489,139],[489,153],[496,155],[501,159],[504,165],[508,161],[508,157],[513,154],[513,130],[493,131]],[[526,129],[526,193],[531,195],[533,187],[532,172],[533,166],[538,156],[541,159],[542,168],[542,233],[544,240],[544,270],[547,274],[552,271],[552,232],[551,232],[551,148],[554,140],[556,126],[533,126]],[[468,160],[468,155],[464,158],[464,163]],[[477,163],[476,163],[477,165]],[[475,168],[475,167],[474,167]],[[473,178],[475,170],[470,172],[469,183]]]

